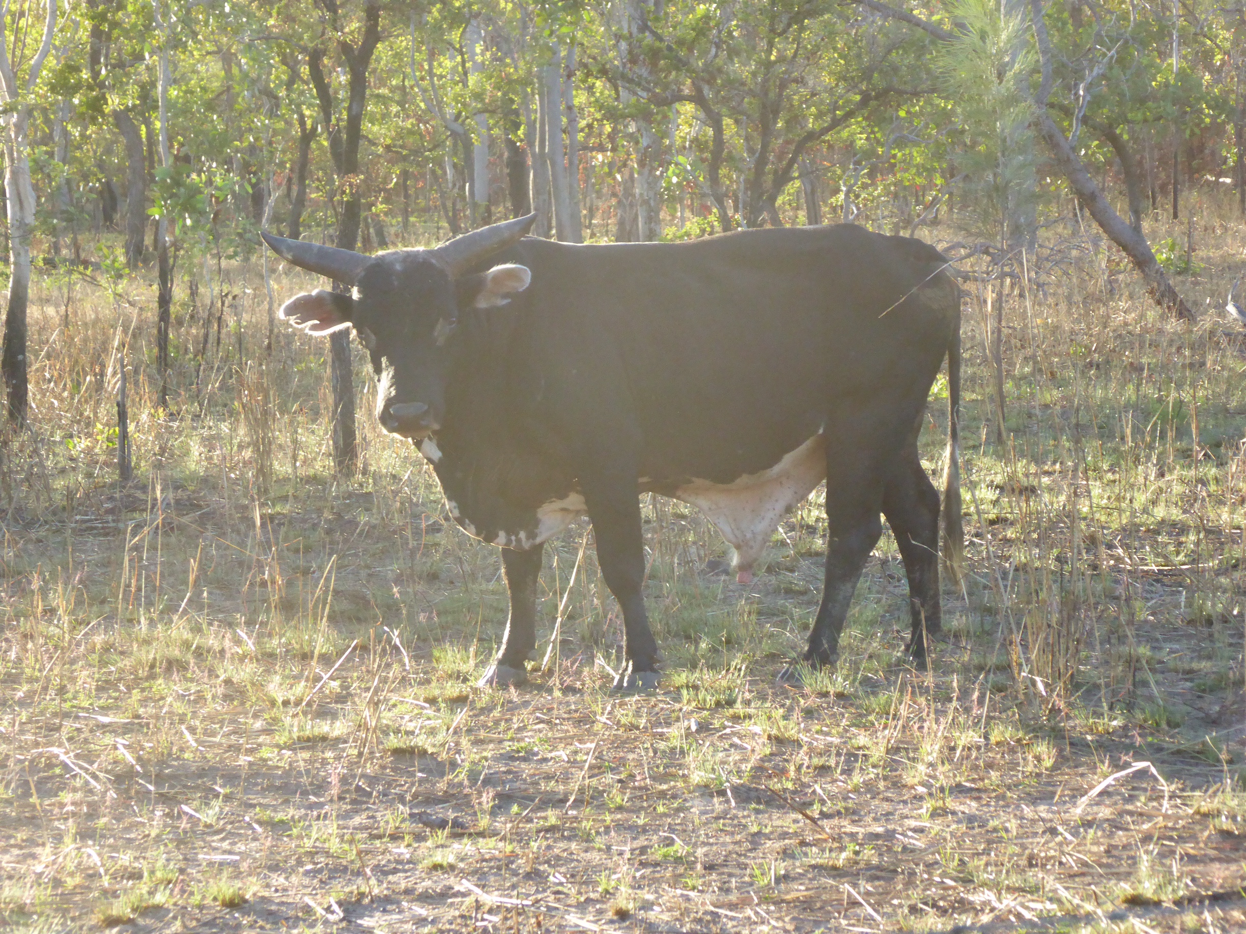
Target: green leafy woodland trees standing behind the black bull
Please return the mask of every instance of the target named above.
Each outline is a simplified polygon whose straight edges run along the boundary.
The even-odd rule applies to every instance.
[[[1144,217],[1180,218],[1201,183],[1246,210],[1237,6],[88,0],[5,16],[19,421],[32,245],[45,268],[151,254],[164,405],[171,355],[192,352],[169,346],[174,308],[213,262],[222,280],[224,259],[255,255],[260,228],[373,252],[528,210],[568,242],[831,220],[913,235],[954,215],[953,258],[987,255],[996,280],[1059,264],[1039,232],[1084,207],[1189,319],[1169,274],[1192,243],[1163,244],[1166,270]],[[333,360],[349,422],[345,335]],[[349,468],[354,430],[338,435]]]

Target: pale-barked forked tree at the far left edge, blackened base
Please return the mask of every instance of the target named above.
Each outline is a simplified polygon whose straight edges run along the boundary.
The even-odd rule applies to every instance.
[[[9,4],[0,7],[0,95],[4,126],[5,188],[9,194],[9,303],[4,320],[0,375],[5,384],[9,421],[24,423],[29,402],[26,380],[26,306],[30,300],[30,238],[35,232],[35,189],[30,182],[30,100],[56,31],[56,2],[46,0],[44,41],[25,78],[14,73],[6,31]]]

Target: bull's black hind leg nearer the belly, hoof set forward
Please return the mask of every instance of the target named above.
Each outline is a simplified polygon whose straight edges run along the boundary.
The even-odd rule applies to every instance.
[[[882,534],[883,484],[880,465],[870,456],[878,446],[876,440],[870,440],[873,443],[863,440],[862,433],[827,431],[826,583],[804,655],[804,661],[811,667],[835,664],[852,593],[870,552]],[[799,680],[799,674],[789,667],[779,679],[794,682]]]

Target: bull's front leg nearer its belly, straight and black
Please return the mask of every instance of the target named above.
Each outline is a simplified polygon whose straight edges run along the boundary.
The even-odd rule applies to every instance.
[[[584,506],[593,522],[597,560],[606,585],[623,610],[625,664],[617,691],[650,691],[658,686],[658,643],[649,629],[640,585],[644,583],[644,538],[635,473],[581,477]]]

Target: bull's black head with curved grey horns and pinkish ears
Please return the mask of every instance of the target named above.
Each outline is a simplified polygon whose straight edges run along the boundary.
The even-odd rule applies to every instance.
[[[450,350],[460,308],[505,305],[527,288],[521,265],[467,275],[516,243],[536,214],[472,230],[434,249],[365,257],[336,247],[262,234],[282,259],[336,283],[350,295],[316,289],[282,305],[280,316],[308,334],[354,328],[378,376],[376,418],[385,431],[421,438],[441,426]]]

